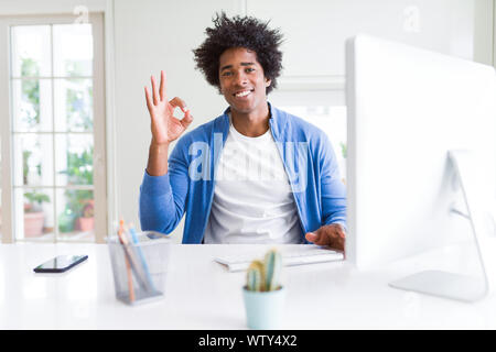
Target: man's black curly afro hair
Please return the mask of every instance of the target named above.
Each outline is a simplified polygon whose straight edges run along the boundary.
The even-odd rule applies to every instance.
[[[219,57],[228,48],[245,47],[257,54],[257,59],[263,68],[265,77],[271,80],[266,92],[277,87],[277,78],[282,70],[282,53],[279,45],[282,34],[278,30],[270,30],[269,22],[263,23],[252,16],[236,15],[228,19],[224,12],[217,13],[213,20],[215,26],[207,28],[207,38],[193,51],[198,68],[206,80],[218,88]]]

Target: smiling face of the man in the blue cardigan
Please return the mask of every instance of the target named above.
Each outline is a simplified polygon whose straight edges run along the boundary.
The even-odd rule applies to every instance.
[[[220,91],[231,110],[245,114],[265,111],[270,79],[266,79],[255,52],[228,48],[219,57],[218,75]]]

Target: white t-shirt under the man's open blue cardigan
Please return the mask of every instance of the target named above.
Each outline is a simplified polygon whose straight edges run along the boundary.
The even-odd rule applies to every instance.
[[[249,138],[230,123],[216,170],[205,243],[301,243],[294,197],[270,129]]]

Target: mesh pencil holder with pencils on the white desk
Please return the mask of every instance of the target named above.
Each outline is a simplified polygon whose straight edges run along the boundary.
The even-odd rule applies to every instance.
[[[157,232],[138,232],[126,243],[107,240],[117,299],[136,305],[163,298],[170,239]]]

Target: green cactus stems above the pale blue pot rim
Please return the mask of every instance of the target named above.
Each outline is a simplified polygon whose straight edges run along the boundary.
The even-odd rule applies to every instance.
[[[247,270],[247,289],[270,292],[280,288],[279,277],[282,267],[281,254],[272,249],[267,252],[263,262],[255,260]]]

